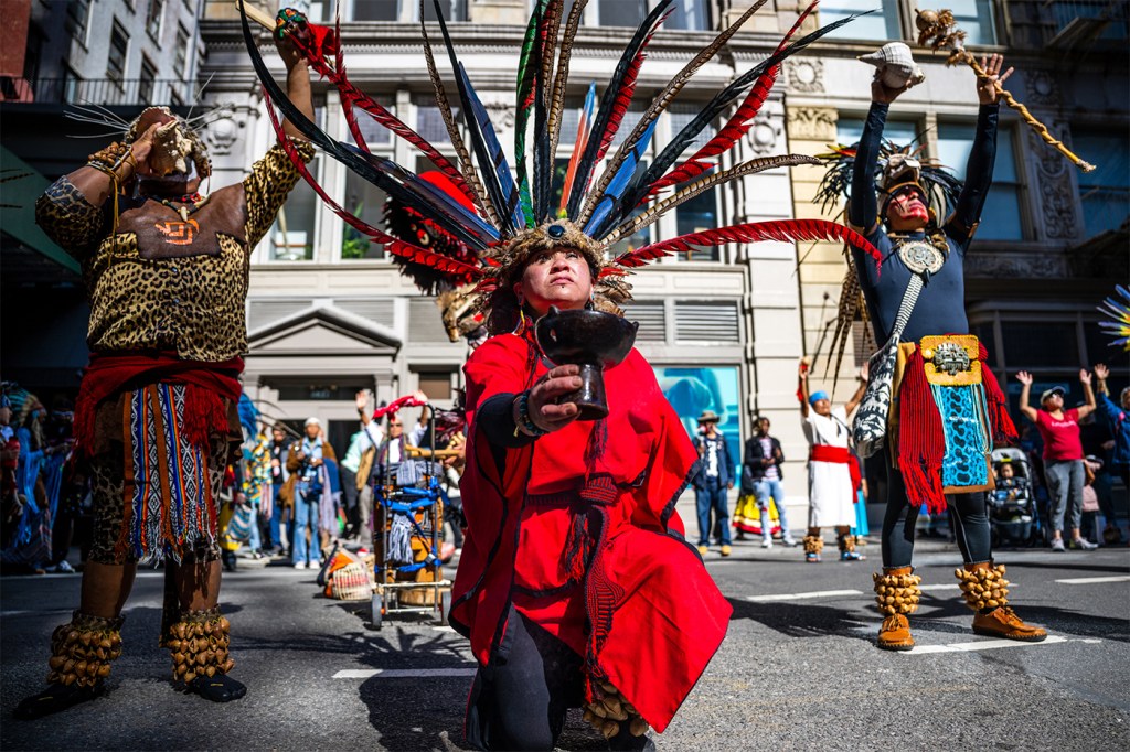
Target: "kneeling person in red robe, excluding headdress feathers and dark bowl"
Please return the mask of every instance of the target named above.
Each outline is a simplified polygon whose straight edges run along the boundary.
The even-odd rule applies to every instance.
[[[579,421],[556,403],[579,367],[551,367],[527,325],[550,305],[605,303],[599,268],[567,221],[528,230],[488,301],[496,335],[466,366],[451,622],[479,663],[466,727],[478,749],[553,749],[582,705],[612,749],[653,749],[647,725],[667,727],[725,636],[731,607],[675,513],[697,454],[651,367],[632,350],[605,371],[608,417]]]

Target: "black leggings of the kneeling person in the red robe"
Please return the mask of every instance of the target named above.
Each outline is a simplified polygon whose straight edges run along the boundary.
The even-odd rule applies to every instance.
[[[510,648],[506,657],[475,674],[467,743],[476,750],[553,750],[565,712],[584,701],[581,656],[513,607],[503,646]]]

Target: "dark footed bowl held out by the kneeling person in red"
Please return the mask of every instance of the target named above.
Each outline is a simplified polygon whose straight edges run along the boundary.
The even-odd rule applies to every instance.
[[[581,388],[558,402],[575,402],[577,420],[600,420],[608,416],[605,399],[605,368],[620,362],[635,343],[637,322],[599,311],[558,311],[538,320],[538,346],[554,365],[581,366]]]

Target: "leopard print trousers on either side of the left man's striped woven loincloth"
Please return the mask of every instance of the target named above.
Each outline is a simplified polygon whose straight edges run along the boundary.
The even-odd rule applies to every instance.
[[[133,551],[118,551],[118,541],[122,534],[125,519],[125,454],[121,441],[111,441],[110,449],[102,452],[88,461],[90,475],[90,493],[94,501],[94,542],[90,545],[92,561],[104,565],[137,563]],[[219,498],[224,483],[224,469],[228,462],[227,437],[214,436],[208,452],[208,482],[211,484],[211,496]],[[219,518],[219,509],[216,509]],[[197,561],[215,561],[219,559],[219,544],[198,541],[195,549],[188,553],[188,559]]]

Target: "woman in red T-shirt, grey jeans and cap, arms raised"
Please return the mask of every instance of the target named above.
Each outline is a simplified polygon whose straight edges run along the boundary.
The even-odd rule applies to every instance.
[[[1044,390],[1040,395],[1040,410],[1028,404],[1032,390],[1032,374],[1022,370],[1016,379],[1020,388],[1020,412],[1036,425],[1044,440],[1044,479],[1052,501],[1052,551],[1062,551],[1064,517],[1070,519],[1071,548],[1089,551],[1098,548],[1083,536],[1083,487],[1086,469],[1083,460],[1083,440],[1079,421],[1095,410],[1095,393],[1090,388],[1090,374],[1079,371],[1085,404],[1063,410],[1062,386]]]

